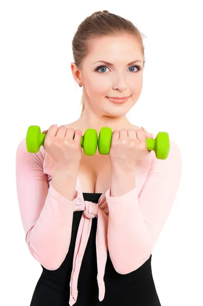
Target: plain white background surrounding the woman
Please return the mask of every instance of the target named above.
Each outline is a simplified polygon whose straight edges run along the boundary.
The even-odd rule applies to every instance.
[[[100,10],[131,20],[147,36],[142,93],[129,120],[151,133],[168,132],[182,152],[181,185],[153,251],[161,304],[203,305],[200,3],[1,2],[1,305],[29,306],[42,272],[24,240],[15,181],[17,145],[30,125],[46,130],[79,118],[82,89],[70,69],[71,42],[78,25]]]

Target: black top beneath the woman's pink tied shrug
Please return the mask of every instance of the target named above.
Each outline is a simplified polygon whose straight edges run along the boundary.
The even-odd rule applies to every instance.
[[[83,193],[84,200],[98,203],[102,193]],[[70,276],[74,246],[83,211],[73,212],[72,233],[68,253],[61,266],[54,271],[45,269],[35,287],[30,306],[69,306]],[[92,227],[78,278],[78,297],[74,306],[161,306],[151,271],[151,256],[137,270],[128,274],[115,271],[107,252],[105,268],[105,297],[98,299],[96,262],[97,218]]]

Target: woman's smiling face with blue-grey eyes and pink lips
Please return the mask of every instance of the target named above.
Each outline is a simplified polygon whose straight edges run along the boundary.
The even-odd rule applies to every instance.
[[[143,54],[139,42],[130,35],[99,37],[90,41],[88,49],[80,71],[74,63],[71,64],[74,65],[75,81],[83,85],[85,108],[98,116],[125,115],[135,105],[142,90]],[[137,60],[139,62],[129,65]],[[117,105],[107,96],[130,97],[126,103]]]

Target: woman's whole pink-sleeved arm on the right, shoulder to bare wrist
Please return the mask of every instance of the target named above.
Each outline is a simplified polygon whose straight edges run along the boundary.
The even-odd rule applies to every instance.
[[[168,158],[154,159],[139,195],[134,184],[136,173],[118,173],[112,173],[111,196],[110,189],[106,193],[108,247],[115,270],[126,274],[150,257],[166,222],[181,180],[180,149],[170,141]]]

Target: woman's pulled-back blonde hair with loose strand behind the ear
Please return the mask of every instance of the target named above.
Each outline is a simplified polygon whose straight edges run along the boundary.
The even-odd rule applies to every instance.
[[[133,35],[140,42],[144,67],[145,57],[142,38],[146,36],[143,35],[131,21],[109,13],[109,11],[106,10],[94,12],[91,16],[85,18],[79,25],[72,40],[72,53],[75,65],[77,65],[78,69],[81,68],[82,60],[88,53],[88,42],[91,38],[123,34]],[[81,104],[82,116],[85,108],[84,95],[82,95]]]

